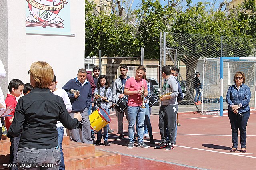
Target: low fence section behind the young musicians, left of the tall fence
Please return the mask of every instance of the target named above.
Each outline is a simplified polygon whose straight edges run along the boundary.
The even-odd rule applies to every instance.
[[[93,67],[100,67],[100,75],[106,74],[110,82],[110,87],[112,88],[113,82],[120,75],[121,65],[126,65],[128,67],[127,75],[130,77],[135,77],[136,69],[139,65],[144,65],[147,70],[146,77],[151,80],[154,87],[154,93],[159,94],[159,61],[158,60],[143,60],[143,48],[140,57],[101,57],[101,52],[99,51],[99,56],[96,57],[86,57],[84,60],[85,68],[93,72]],[[92,73],[93,75],[93,73]],[[157,101],[155,106],[159,105]],[[158,114],[159,109],[152,109],[153,114]]]

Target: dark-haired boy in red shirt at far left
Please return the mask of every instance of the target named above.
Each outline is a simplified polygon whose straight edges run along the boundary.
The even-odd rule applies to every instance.
[[[23,88],[24,88],[24,83],[22,81],[18,79],[12,79],[10,81],[8,85],[8,90],[10,91],[10,94],[7,94],[7,97],[5,99],[6,106],[16,107],[17,101],[15,97],[20,97],[20,95],[22,94]],[[14,111],[15,109],[13,109],[13,111],[11,112],[12,116],[5,117],[7,130],[9,130],[10,125],[12,124]],[[10,160],[9,160],[9,163],[12,166],[13,164],[17,164],[17,152],[18,152],[18,145],[20,142],[20,136],[18,137],[8,136],[8,137],[10,138],[10,141],[12,143],[10,147]],[[10,167],[10,169],[18,170],[18,167]]]

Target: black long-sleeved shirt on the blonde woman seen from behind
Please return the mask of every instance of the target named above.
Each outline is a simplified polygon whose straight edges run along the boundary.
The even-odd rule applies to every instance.
[[[49,89],[33,89],[17,103],[8,136],[20,137],[20,148],[50,149],[58,145],[56,123],[59,120],[68,129],[82,124],[68,114],[62,97]]]

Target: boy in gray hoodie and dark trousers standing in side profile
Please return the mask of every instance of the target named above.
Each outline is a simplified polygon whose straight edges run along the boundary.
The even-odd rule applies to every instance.
[[[171,93],[161,97],[161,107],[159,110],[159,130],[161,134],[162,144],[155,146],[156,149],[172,150],[175,137],[176,114],[178,111],[177,97],[178,83],[177,78],[172,75],[169,66],[162,67],[162,77],[164,78],[163,94]],[[167,134],[167,130],[169,134]],[[169,142],[166,141],[167,135]]]

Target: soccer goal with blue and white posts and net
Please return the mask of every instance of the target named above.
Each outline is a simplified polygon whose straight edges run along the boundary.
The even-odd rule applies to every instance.
[[[250,108],[255,108],[256,57],[221,57],[204,60],[202,86],[202,113],[223,115],[228,109],[226,94],[234,85],[237,71],[245,74],[245,83],[250,87],[252,97]]]

